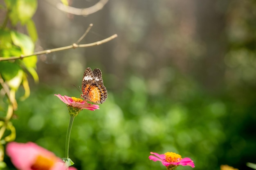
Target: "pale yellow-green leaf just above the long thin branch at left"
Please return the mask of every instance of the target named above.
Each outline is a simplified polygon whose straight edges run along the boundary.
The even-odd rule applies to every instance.
[[[20,47],[22,54],[26,55],[34,52],[34,43],[27,35],[11,31],[11,39],[13,44]]]

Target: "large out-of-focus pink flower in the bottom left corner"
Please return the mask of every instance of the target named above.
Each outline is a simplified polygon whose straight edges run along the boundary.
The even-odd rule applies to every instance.
[[[26,144],[11,142],[7,144],[7,155],[19,170],[66,170],[67,166],[54,153],[33,142]],[[69,168],[76,170],[76,168]]]

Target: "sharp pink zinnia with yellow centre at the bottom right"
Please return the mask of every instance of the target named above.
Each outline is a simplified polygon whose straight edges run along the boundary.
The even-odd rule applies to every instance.
[[[177,166],[182,165],[182,166],[191,166],[192,168],[195,168],[194,162],[190,159],[190,158],[183,158],[177,154],[177,153],[173,153],[173,152],[167,152],[165,154],[158,154],[158,153],[153,153],[150,152],[150,155],[148,158],[152,161],[161,161],[162,164],[164,166],[166,166],[166,168],[168,170],[173,170],[175,169]]]

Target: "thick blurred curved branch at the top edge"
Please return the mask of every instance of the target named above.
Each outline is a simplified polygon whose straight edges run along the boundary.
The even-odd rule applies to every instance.
[[[97,4],[93,5],[92,7],[83,8],[83,9],[70,7],[70,6],[66,6],[64,4],[59,3],[57,4],[57,8],[60,9],[61,11],[64,11],[66,13],[71,13],[74,15],[90,15],[92,13],[95,13],[101,10],[107,2],[108,0],[100,0],[99,2],[97,2]]]

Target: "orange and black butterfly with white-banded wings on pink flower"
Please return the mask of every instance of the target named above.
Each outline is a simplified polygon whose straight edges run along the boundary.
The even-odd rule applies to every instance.
[[[101,104],[108,98],[108,92],[103,85],[102,73],[99,68],[92,71],[90,67],[86,68],[83,74],[81,97],[85,100]]]

